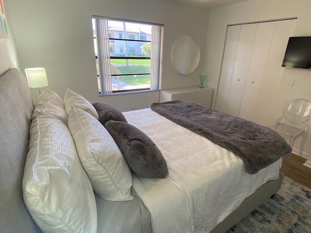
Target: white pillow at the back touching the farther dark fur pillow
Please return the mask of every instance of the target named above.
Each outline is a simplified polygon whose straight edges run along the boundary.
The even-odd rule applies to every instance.
[[[80,108],[90,115],[94,116],[96,119],[99,119],[98,113],[94,106],[86,100],[83,96],[71,91],[70,89],[66,90],[65,97],[64,97],[65,109],[67,115],[69,116],[69,112],[71,109],[71,105],[75,106],[76,108]]]

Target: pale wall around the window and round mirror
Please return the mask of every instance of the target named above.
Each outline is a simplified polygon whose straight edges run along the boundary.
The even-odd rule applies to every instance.
[[[92,15],[164,24],[162,89],[199,85],[203,62],[192,74],[180,75],[171,65],[170,52],[173,42],[186,34],[205,50],[207,8],[166,0],[9,0],[8,7],[21,69],[45,67],[49,88],[61,98],[69,88],[121,111],[159,101],[158,91],[98,95]]]

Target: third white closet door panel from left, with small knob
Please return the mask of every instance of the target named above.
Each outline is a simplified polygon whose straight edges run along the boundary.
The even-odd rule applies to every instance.
[[[239,117],[253,120],[276,22],[259,23],[248,68]]]

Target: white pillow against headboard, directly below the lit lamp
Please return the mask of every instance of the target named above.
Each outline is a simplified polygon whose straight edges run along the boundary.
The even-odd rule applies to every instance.
[[[45,89],[38,97],[35,102],[35,109],[39,111],[34,111],[32,120],[38,115],[52,115],[60,119],[65,125],[68,125],[68,116],[64,102],[49,88]]]

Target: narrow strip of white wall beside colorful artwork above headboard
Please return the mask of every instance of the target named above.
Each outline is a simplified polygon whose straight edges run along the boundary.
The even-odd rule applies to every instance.
[[[3,4],[9,38],[0,37],[0,75],[4,74],[10,68],[18,68],[14,34],[12,32],[11,19],[6,1],[7,0],[3,0]]]

